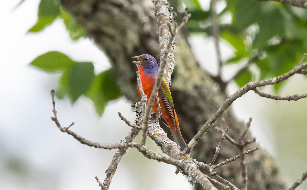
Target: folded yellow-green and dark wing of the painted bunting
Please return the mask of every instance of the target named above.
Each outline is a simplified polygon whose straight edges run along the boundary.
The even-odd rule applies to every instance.
[[[162,101],[165,104],[165,107],[167,108],[167,110],[169,111],[169,114],[171,115],[173,119],[174,126],[175,126],[174,102],[172,99],[171,91],[169,90],[169,85],[167,85],[164,77],[162,77],[159,92],[162,97]],[[161,100],[159,101],[161,102]]]

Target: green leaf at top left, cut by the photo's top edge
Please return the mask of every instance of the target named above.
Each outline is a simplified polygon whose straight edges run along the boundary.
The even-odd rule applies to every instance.
[[[38,32],[51,24],[60,15],[60,2],[58,0],[41,0],[38,6],[37,23],[28,32]]]

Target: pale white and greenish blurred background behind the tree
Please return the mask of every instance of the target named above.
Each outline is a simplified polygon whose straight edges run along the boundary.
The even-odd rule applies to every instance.
[[[64,19],[55,19],[43,29],[33,29],[33,26],[38,27],[36,23],[40,0],[26,0],[17,6],[19,2],[13,0],[0,3],[0,189],[100,189],[95,176],[103,181],[115,150],[87,147],[61,133],[50,119],[53,116],[50,90],[59,89],[63,85],[62,72],[56,69],[47,69],[46,72],[46,69],[39,69],[39,65],[29,64],[46,52],[58,51],[73,61],[91,62],[94,74],[98,75],[111,68],[108,58],[91,39],[83,37],[81,29],[77,29],[79,33],[76,35],[69,34]],[[182,7],[189,2],[195,3],[178,1]],[[199,9],[203,11],[209,10],[211,6],[207,0],[199,0],[198,3]],[[225,6],[225,1],[218,1],[217,11],[222,12]],[[229,20],[231,15],[226,15],[223,22]],[[187,24],[191,30],[193,22],[196,21],[191,20]],[[199,22],[197,26],[205,25]],[[302,28],[306,26],[302,25]],[[29,32],[29,29],[38,32]],[[192,51],[203,69],[216,73],[217,59],[212,37],[205,33],[206,29],[204,32],[196,30],[199,29],[192,31],[188,37]],[[238,53],[233,44],[225,39],[220,41],[220,46],[222,59],[227,62],[234,56],[238,57]],[[284,70],[298,63],[297,60],[303,55],[301,52],[307,53],[304,47],[301,46],[295,54],[295,60],[289,58],[289,62],[294,64],[287,65]],[[282,56],[288,50],[277,51]],[[266,56],[270,56],[270,53]],[[223,67],[224,77],[231,77],[240,66],[242,63]],[[251,65],[248,69],[252,73],[250,77],[232,81],[227,87],[227,94],[235,92],[244,80],[262,79],[265,69]],[[271,74],[278,72],[281,71]],[[262,90],[284,96],[302,94],[307,92],[307,80],[304,76],[295,75],[277,88],[268,86]],[[74,98],[57,94],[57,97],[56,110],[61,125],[68,126],[75,122],[71,129],[92,141],[118,143],[126,136],[130,129],[120,120],[118,112],[131,122],[135,119],[132,102],[120,93],[101,107],[85,96]],[[275,157],[289,185],[307,169],[306,103],[305,99],[275,101],[249,92],[236,100],[231,108],[244,122],[249,117],[253,118],[253,136],[261,148]],[[135,141],[140,141],[140,137]],[[148,144],[149,148],[161,152],[151,140],[148,140]],[[193,189],[185,176],[174,175],[175,170],[173,166],[148,160],[138,151],[129,148],[119,163],[110,189]],[[142,183],[139,182],[141,178]],[[153,181],[155,186],[149,186]],[[307,183],[304,182],[297,189],[306,188]]]

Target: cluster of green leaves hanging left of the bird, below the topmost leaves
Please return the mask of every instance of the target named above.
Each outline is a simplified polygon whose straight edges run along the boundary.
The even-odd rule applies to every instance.
[[[60,87],[56,90],[56,96],[62,99],[67,95],[72,103],[75,103],[80,96],[85,95],[94,102],[99,116],[103,114],[108,101],[122,96],[112,69],[95,75],[93,63],[76,62],[57,51],[38,56],[30,65],[46,72],[61,72]]]

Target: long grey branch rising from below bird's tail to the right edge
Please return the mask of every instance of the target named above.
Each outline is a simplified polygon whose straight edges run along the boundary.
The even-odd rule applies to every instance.
[[[302,60],[305,60],[306,54],[304,54]],[[271,79],[265,79],[258,82],[249,82],[244,85],[242,88],[237,90],[234,94],[228,97],[223,105],[216,111],[216,113],[206,121],[204,126],[197,132],[197,134],[193,137],[193,139],[189,142],[188,146],[185,148],[184,152],[188,153],[192,150],[192,148],[196,145],[196,143],[200,140],[200,138],[210,129],[210,127],[215,123],[217,118],[219,118],[222,113],[234,102],[237,98],[241,97],[243,94],[247,93],[251,89],[255,89],[260,86],[273,85],[279,83],[281,81],[287,80],[289,77],[293,76],[296,73],[300,73],[302,69],[307,67],[307,62],[300,62],[299,65],[295,66],[292,70],[278,77],[274,77]]]

